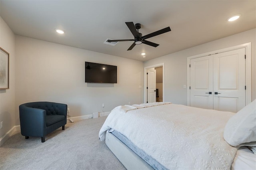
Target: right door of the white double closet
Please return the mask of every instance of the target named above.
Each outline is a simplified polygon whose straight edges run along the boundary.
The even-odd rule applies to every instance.
[[[246,105],[245,48],[212,56],[214,110],[236,113]]]

